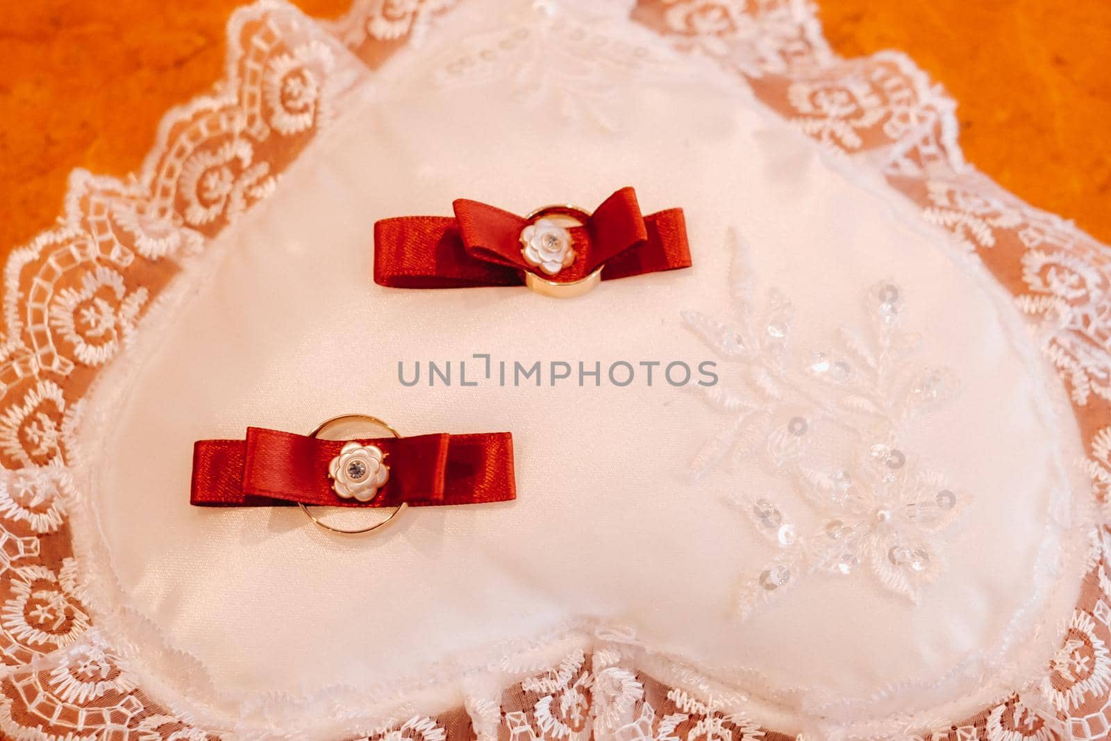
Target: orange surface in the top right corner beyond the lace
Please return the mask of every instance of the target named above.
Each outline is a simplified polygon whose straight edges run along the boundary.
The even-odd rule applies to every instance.
[[[909,53],[957,100],[967,159],[1111,243],[1111,2],[819,0],[847,57]]]

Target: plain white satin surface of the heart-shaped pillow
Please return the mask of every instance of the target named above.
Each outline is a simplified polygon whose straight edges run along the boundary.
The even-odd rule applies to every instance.
[[[503,10],[479,6],[471,18],[500,33]],[[470,39],[467,28],[447,30],[427,47],[436,54],[399,64],[427,57],[421,69],[440,69],[441,50]],[[590,48],[584,59],[603,62],[602,47]],[[554,73],[560,64],[553,56]],[[791,732],[850,712],[958,720],[1022,687],[1033,675],[1023,667],[1044,672],[1060,633],[1028,637],[1038,623],[1067,623],[1077,604],[1075,593],[1044,589],[1079,592],[1071,552],[1060,562],[1054,554],[1073,535],[1062,518],[1084,522],[1058,500],[1088,494],[1065,478],[1085,449],[1074,422],[1044,411],[1067,397],[1037,362],[1012,297],[961,246],[923,227],[871,169],[829,158],[794,124],[704,80],[637,79],[597,107],[588,99],[612,113],[613,134],[513,99],[510,79],[442,90],[432,73],[398,67],[404,84],[392,97],[343,108],[312,160],[207,248],[211,262],[183,274],[182,307],[159,301],[133,333],[136,360],[106,369],[82,400],[87,421],[76,433],[96,462],[84,540],[98,548],[90,571],[113,585],[97,613],[148,647],[137,660],[164,660],[192,692],[190,707],[226,712],[224,727],[251,733],[266,722],[306,739],[354,738],[321,731],[320,719],[376,701],[434,712],[427,689],[451,708],[461,697],[484,701],[468,694],[480,687],[497,708],[504,683],[487,668],[512,661],[518,645],[548,647],[582,620],[722,678],[749,699],[745,712],[781,717],[772,725]],[[683,206],[698,251],[690,270],[609,282],[571,301],[371,281],[373,223],[413,213],[414,203],[447,207],[466,188],[523,214],[538,193],[600,203],[615,178],[637,183],[645,204]],[[731,234],[748,250],[734,254]],[[745,276],[755,283],[741,290]],[[811,351],[839,347],[840,327],[870,337],[862,292],[877,281],[901,287],[903,326],[921,337],[909,370],[950,368],[962,384],[905,440],[969,495],[940,544],[945,568],[918,604],[885,593],[864,563],[849,574],[792,574],[778,603],[740,622],[738,583],[782,551],[765,542],[744,498],[777,502],[800,533],[821,533],[825,520],[748,457],[725,454],[688,475],[737,415],[707,403],[699,387],[672,388],[662,368],[649,385],[637,363],[714,360],[720,400],[759,401],[737,378],[743,359],[708,347],[684,312],[723,332],[739,327],[738,314],[764,330],[778,291],[793,307],[791,358],[809,363]],[[474,353],[491,356],[478,387],[431,385],[427,375],[399,383],[399,361],[450,360],[454,380],[466,359],[476,378],[484,363]],[[638,371],[628,387],[607,375],[621,359]],[[546,370],[539,385],[517,385],[518,361],[567,361],[575,375],[580,362],[600,362],[601,379],[552,385]],[[528,490],[512,504],[424,509],[383,537],[357,539],[320,531],[297,508],[188,504],[196,440],[242,437],[251,424],[308,431],[352,409],[403,420],[411,432],[512,430]],[[833,445],[838,430],[825,424],[823,439]],[[823,461],[851,460],[855,438],[823,448]],[[588,650],[595,647],[605,644]],[[995,658],[1004,669],[987,668]],[[530,671],[540,665],[552,664]],[[169,684],[157,669],[148,673]]]

